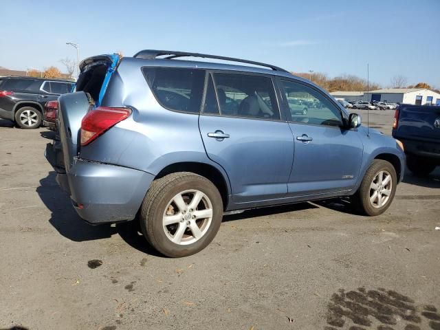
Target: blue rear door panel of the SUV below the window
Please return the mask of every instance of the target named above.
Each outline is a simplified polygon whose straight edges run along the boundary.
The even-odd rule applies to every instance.
[[[294,159],[286,122],[200,115],[199,127],[208,157],[229,175],[234,203],[285,197]],[[230,137],[208,137],[217,130]]]

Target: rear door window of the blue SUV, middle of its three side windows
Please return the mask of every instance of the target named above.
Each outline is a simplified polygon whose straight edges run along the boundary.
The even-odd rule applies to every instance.
[[[279,120],[276,95],[272,79],[248,74],[212,74],[214,91],[221,115]],[[212,102],[212,89],[208,84],[207,102]],[[209,98],[208,98],[209,97]],[[213,105],[204,110],[216,111]]]

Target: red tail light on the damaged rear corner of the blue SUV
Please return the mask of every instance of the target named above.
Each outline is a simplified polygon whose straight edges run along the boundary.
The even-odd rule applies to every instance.
[[[81,145],[85,146],[131,114],[128,108],[97,107],[81,122]]]

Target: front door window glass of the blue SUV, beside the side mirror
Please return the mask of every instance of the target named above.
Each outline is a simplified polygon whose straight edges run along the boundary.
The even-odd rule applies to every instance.
[[[328,98],[311,87],[281,80],[292,122],[305,124],[341,126],[340,110]]]

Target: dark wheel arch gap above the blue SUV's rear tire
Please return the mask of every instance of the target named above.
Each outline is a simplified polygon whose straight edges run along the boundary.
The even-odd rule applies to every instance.
[[[173,164],[168,164],[162,170],[157,173],[155,179],[164,177],[165,175],[176,173],[176,172],[191,172],[202,177],[209,179],[214,186],[220,192],[221,199],[223,200],[223,209],[228,208],[228,202],[230,197],[230,185],[228,178],[221,170],[213,166],[212,164],[206,164],[201,162],[178,162]]]

